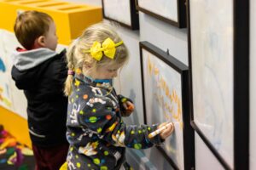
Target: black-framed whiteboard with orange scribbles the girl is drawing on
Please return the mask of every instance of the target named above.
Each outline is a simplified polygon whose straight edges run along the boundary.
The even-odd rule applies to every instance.
[[[140,47],[145,122],[173,122],[174,133],[160,151],[174,168],[191,168],[194,165],[188,160],[194,157],[194,136],[189,126],[188,67],[149,42],[141,42]],[[190,145],[185,144],[185,138]]]

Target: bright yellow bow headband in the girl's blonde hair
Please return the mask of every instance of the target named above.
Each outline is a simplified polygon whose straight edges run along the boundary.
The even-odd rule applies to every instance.
[[[110,59],[113,59],[115,54],[115,47],[123,44],[123,41],[114,43],[113,40],[108,37],[102,44],[100,42],[94,42],[90,50],[85,51],[84,53],[90,53],[90,55],[96,59],[101,60],[103,53]]]

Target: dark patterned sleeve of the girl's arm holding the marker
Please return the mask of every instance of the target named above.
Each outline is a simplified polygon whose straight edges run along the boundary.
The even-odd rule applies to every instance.
[[[98,136],[108,143],[146,149],[154,144],[160,144],[160,136],[153,139],[148,134],[153,132],[157,125],[127,126],[119,116],[119,105],[108,97],[92,97],[84,103],[79,112],[79,123],[96,132]]]

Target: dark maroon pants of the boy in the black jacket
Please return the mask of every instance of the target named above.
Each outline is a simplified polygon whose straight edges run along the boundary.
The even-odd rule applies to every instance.
[[[54,147],[38,147],[32,144],[36,159],[36,170],[57,170],[66,161],[69,144]]]

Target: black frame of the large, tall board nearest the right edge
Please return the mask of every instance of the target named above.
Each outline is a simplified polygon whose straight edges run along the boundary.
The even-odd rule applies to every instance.
[[[217,157],[218,161],[225,169],[248,169],[249,168],[249,0],[239,1],[233,0],[233,108],[234,112],[234,165],[230,165],[225,160],[218,150],[212,145],[210,139],[207,139],[206,134],[201,131],[199,126],[195,123],[194,119],[194,106],[193,95],[197,95],[193,91],[193,63],[192,59],[197,56],[192,56],[192,34],[191,34],[191,9],[190,2],[188,1],[188,42],[189,42],[189,91],[191,101],[191,125],[195,129],[195,132],[199,134],[201,139],[205,142],[207,147],[212,151],[212,154]],[[218,17],[218,16],[217,16]],[[198,20],[202,22],[202,20]],[[195,23],[193,23],[195,24]],[[196,23],[198,24],[198,23]],[[194,25],[195,26],[195,25]],[[193,28],[192,28],[193,29]],[[194,35],[193,35],[194,36]],[[197,40],[200,41],[200,40]],[[200,49],[202,50],[202,49]],[[227,49],[228,50],[228,49]],[[207,56],[206,56],[207,57]],[[228,68],[227,68],[228,69]],[[224,72],[225,74],[225,72]]]

